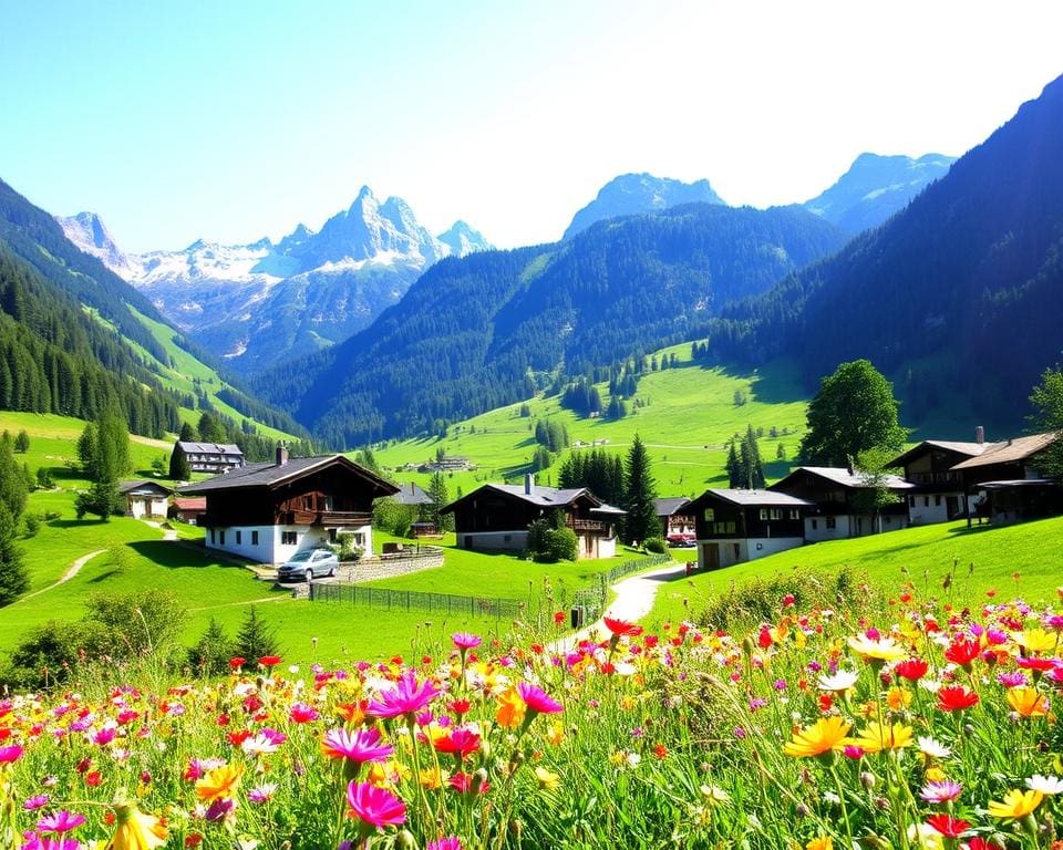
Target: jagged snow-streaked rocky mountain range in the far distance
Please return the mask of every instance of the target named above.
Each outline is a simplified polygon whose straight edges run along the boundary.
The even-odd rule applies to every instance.
[[[434,237],[404,200],[381,203],[368,186],[320,231],[299,225],[277,245],[199,240],[180,251],[125,255],[94,214],[58,220],[72,241],[242,373],[347,339],[432,263],[491,247],[464,221]]]

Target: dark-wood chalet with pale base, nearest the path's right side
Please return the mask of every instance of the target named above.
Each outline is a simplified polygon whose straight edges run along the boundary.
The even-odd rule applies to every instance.
[[[785,493],[705,490],[684,509],[694,516],[699,569],[731,567],[804,545],[804,517],[814,508]]]

